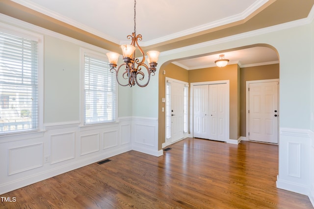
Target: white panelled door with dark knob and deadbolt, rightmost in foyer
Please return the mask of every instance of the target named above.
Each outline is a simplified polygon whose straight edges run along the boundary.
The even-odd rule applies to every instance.
[[[249,140],[278,143],[278,82],[249,84]]]

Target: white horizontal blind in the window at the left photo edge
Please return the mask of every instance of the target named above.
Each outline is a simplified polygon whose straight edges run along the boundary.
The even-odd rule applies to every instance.
[[[38,42],[0,32],[0,135],[38,129]]]

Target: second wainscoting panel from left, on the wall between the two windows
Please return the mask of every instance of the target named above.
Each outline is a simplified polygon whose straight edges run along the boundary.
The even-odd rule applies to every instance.
[[[75,133],[51,136],[51,164],[75,158]]]

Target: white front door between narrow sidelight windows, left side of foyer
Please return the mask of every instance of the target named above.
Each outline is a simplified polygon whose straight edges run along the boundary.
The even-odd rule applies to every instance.
[[[184,84],[171,83],[171,142],[184,137],[183,104]]]

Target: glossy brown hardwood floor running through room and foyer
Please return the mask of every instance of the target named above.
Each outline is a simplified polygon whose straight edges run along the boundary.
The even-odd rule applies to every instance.
[[[0,195],[1,209],[312,209],[276,188],[278,146],[184,139],[161,157],[130,151]]]

